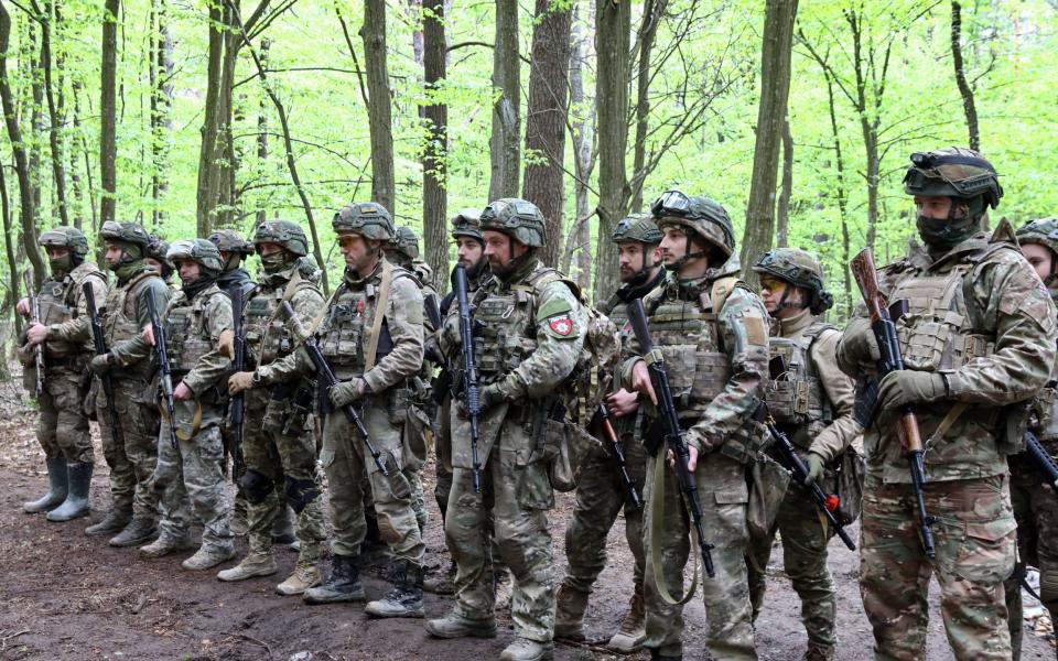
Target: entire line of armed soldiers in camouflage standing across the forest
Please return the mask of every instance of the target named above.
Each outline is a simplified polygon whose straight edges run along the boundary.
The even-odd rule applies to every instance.
[[[414,235],[375,203],[335,215],[345,271],[326,300],[305,235],[290,221],[259,225],[252,247],[234,232],[174,242],[161,266],[169,260],[179,272],[179,291],[145,263],[152,239],[136,224],[100,231],[112,288],[85,261],[80,232],[44,232],[52,277],[21,354],[32,376],[31,354],[44,349],[37,435],[50,489],[24,509],[53,521],[88,513],[95,415],[111,506],[86,533],[116,534],[112,545],[141,545],[156,557],[191,550],[197,521],[202,543],[183,566],[231,559],[224,455],[225,438],[238,434],[226,411],[241,397],[245,433],[231,449],[245,460],[237,477],[249,552],[219,571],[222,581],[277,572],[271,531],[289,506],[299,559],[277,592],[310,604],[365,602],[359,576],[374,529],[393,559],[392,588],[365,611],[424,617],[420,476],[432,438],[454,574],[425,585],[451,584],[455,594],[444,617],[425,622],[434,637],[496,637],[497,583],[509,573],[515,640],[500,659],[549,659],[555,639],[583,641],[607,534],[623,513],[634,588],[608,647],[682,658],[682,606],[700,589],[708,652],[756,659],[765,568],[780,534],[802,605],[805,659],[834,659],[827,559],[839,530],[830,521],[862,517],[861,592],[876,658],[925,658],[931,576],[957,658],[1019,658],[1026,563],[1040,570],[1044,605],[1058,608],[1058,549],[1049,539],[1058,501],[1023,453],[1026,430],[1058,453],[1058,220],[1036,220],[1016,236],[1005,220],[987,231],[1002,187],[992,164],[967,149],[913,154],[904,186],[922,245],[878,271],[903,355],[904,368],[893,370],[879,366],[890,347],[864,310],[844,332],[821,321],[833,297],[816,258],[788,248],[764,254],[753,267],[762,282],[754,292],[739,278],[727,212],[679,191],[617,224],[622,285],[597,306],[539,260],[544,219],[521,199],[456,216],[458,295],[440,302]],[[257,283],[239,268],[251,248],[262,269]],[[238,338],[233,288],[245,301],[235,311],[245,328]],[[95,356],[88,292],[105,311],[106,350]],[[161,326],[151,324],[149,299]],[[30,307],[19,303],[23,314]],[[648,337],[634,330],[640,308]],[[584,391],[571,388],[597,381],[593,360],[607,330],[617,342],[603,398],[614,445],[584,442],[585,430],[604,438],[604,425],[597,414],[577,416]],[[159,333],[176,383],[172,420],[160,414]],[[233,373],[237,342],[248,358]],[[100,378],[89,383],[90,373]],[[913,481],[896,424],[913,408],[927,438],[925,485]],[[666,430],[667,413],[679,434]],[[790,483],[774,434],[792,444],[802,480]],[[667,449],[680,443],[685,459]],[[563,466],[570,456],[573,465]],[[683,460],[693,491],[672,469]],[[548,511],[554,490],[572,486],[563,467],[577,479],[560,577]],[[813,503],[816,487],[838,496],[840,519]],[[333,528],[326,577],[324,492]],[[709,543],[695,537],[699,523]]]

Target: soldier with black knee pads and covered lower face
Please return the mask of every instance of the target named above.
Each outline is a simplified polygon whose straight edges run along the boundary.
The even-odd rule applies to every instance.
[[[248,362],[264,366],[293,353],[296,340],[283,323],[279,306],[290,303],[299,321],[310,325],[324,308],[323,294],[300,258],[309,254],[309,240],[296,223],[268,220],[253,237],[263,275],[242,313]],[[250,366],[252,367],[252,365]],[[246,393],[242,453],[246,475],[241,489],[249,501],[249,552],[220,581],[242,581],[277,572],[272,555],[273,524],[291,503],[298,512],[301,540],[294,573],[276,586],[281,595],[300,595],[320,585],[320,544],[323,498],[316,469],[315,422],[312,397],[315,383],[301,379]],[[280,499],[280,492],[287,495]]]

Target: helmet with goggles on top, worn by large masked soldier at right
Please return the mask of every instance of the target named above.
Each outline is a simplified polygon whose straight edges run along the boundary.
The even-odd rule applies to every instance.
[[[960,147],[911,154],[911,166],[904,175],[904,192],[967,201],[980,197],[983,203],[980,208],[971,208],[976,216],[984,213],[985,205],[997,207],[1003,197],[1003,186],[992,163],[978,152]]]

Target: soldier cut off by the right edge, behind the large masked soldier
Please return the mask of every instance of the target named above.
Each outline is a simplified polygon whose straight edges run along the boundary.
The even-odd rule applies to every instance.
[[[1033,220],[1018,228],[1017,241],[1028,263],[1047,286],[1051,300],[1058,301],[1058,218]],[[1058,364],[1047,386],[1028,407],[1026,424],[1052,457],[1058,456]],[[1046,484],[1025,454],[1008,457],[1011,465],[1011,501],[1017,521],[1018,566],[1004,583],[1010,611],[1013,659],[1022,657],[1025,616],[1018,578],[1025,566],[1039,568],[1039,597],[1058,621],[1058,500],[1051,485]]]

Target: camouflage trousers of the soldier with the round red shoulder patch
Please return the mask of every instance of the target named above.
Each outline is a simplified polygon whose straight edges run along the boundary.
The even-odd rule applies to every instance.
[[[514,427],[507,433],[523,433]],[[515,635],[541,642],[554,637],[554,556],[547,509],[553,506],[546,466],[518,465],[518,453],[493,445],[474,492],[469,468],[454,468],[444,537],[456,564],[457,613],[492,619],[496,604],[494,544],[514,576]],[[492,525],[489,521],[492,520]]]

